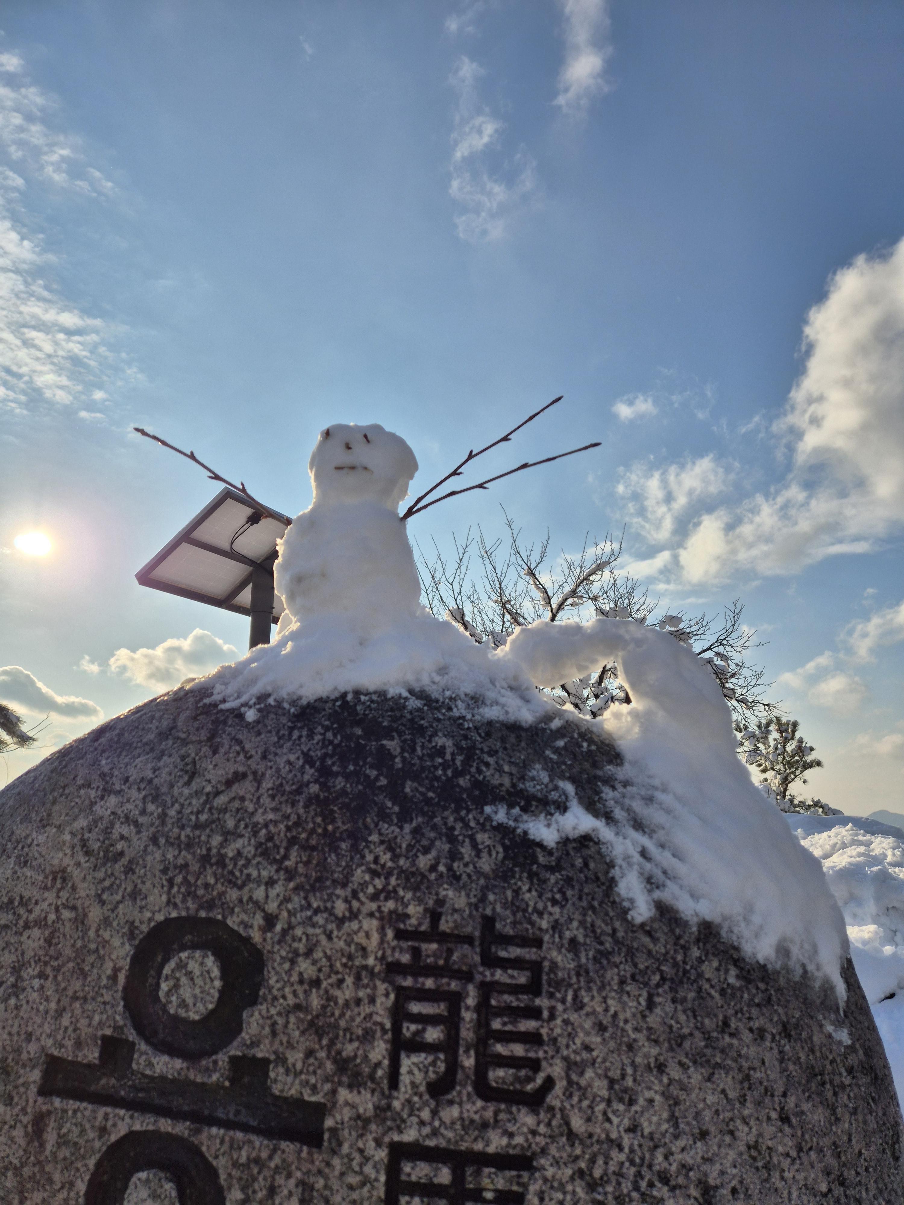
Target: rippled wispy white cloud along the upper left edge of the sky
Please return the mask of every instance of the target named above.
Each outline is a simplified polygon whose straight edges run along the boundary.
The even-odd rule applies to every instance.
[[[104,323],[66,304],[48,282],[53,257],[29,231],[30,188],[95,200],[115,192],[78,140],[48,124],[54,110],[28,81],[22,58],[0,54],[0,406],[13,411],[96,401],[110,365]]]

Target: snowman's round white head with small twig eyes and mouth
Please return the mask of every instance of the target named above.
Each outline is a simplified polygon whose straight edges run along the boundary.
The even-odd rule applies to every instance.
[[[400,435],[380,423],[334,423],[307,463],[313,505],[371,501],[397,510],[417,472],[415,453]]]

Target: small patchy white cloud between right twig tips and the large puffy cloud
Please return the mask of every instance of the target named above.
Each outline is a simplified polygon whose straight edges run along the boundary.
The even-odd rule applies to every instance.
[[[730,478],[730,470],[711,454],[664,469],[640,462],[622,472],[616,492],[640,533],[651,542],[661,542],[673,537],[689,510],[723,493]],[[661,553],[657,559],[665,569],[670,554],[663,558]]]

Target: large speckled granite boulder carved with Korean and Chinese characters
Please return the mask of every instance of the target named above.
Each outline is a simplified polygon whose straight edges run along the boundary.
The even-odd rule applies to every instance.
[[[563,718],[519,727],[372,694],[262,707],[248,721],[194,688],[23,775],[0,793],[0,1200],[175,1201],[159,1171],[140,1171],[128,1193],[131,1172],[119,1188],[101,1183],[115,1156],[140,1168],[159,1141],[125,1135],[162,1131],[193,1144],[180,1148],[195,1163],[178,1172],[190,1181],[178,1199],[200,1205],[425,1199],[409,1181],[432,1183],[434,1199],[512,1205],[519,1193],[527,1205],[900,1201],[900,1115],[850,965],[841,1019],[830,986],[746,960],[711,925],[664,909],[632,923],[592,839],[547,848],[487,815],[500,803],[535,815],[563,807],[544,787],[563,778],[594,810],[617,762],[588,725]],[[442,931],[474,944],[397,940],[397,929],[429,930],[432,911]],[[184,1033],[206,1040],[222,1021],[229,1040],[225,1015],[204,1019],[219,964],[210,950],[178,953],[146,1023],[153,951],[136,946],[160,921],[190,916],[235,930],[229,957],[247,956],[248,982],[258,958],[248,941],[264,969],[257,1003],[239,1011],[239,1036],[187,1060],[162,1052],[166,1033],[181,1048]],[[494,945],[493,924],[497,939],[541,939],[542,948]],[[387,969],[417,951],[442,975]],[[526,965],[500,965],[500,956]],[[529,965],[538,960],[541,984]],[[448,1051],[403,1050],[391,1091],[405,986],[441,994],[400,995],[399,1007],[445,1022],[407,1022],[406,1045],[418,1034],[442,1042],[456,1001],[460,1038]],[[489,1028],[539,1033],[544,1045],[497,1036],[481,1046],[491,1006],[503,1011]],[[133,1015],[148,1033],[160,1023],[157,1050]],[[111,1070],[128,1064],[122,1040],[136,1046],[133,1077],[177,1080],[177,1093],[205,1081],[227,1098],[230,1056],[271,1059],[271,1092],[325,1106],[322,1148],[39,1095],[58,1060],[95,1064],[102,1035],[121,1039],[107,1045],[105,1091],[127,1082]],[[500,1054],[541,1066],[487,1062]],[[236,1068],[254,1066],[234,1064],[233,1082]],[[530,1091],[544,1103],[505,1099]],[[442,1164],[394,1146],[399,1175],[387,1187],[391,1144],[471,1154]],[[505,1154],[521,1160],[481,1166]]]

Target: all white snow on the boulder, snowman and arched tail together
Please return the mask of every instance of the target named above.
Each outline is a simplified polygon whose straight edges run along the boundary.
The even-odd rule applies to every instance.
[[[594,723],[626,759],[623,787],[591,816],[570,783],[551,783],[548,822],[499,819],[552,842],[592,833],[611,852],[632,916],[656,900],[711,919],[751,957],[827,975],[844,998],[843,918],[820,864],[792,837],[735,756],[730,715],[709,666],[668,631],[630,619],[535,623],[507,643],[476,645],[419,602],[398,506],[417,470],[411,448],[378,424],[336,424],[311,455],[313,501],[288,529],[276,563],[286,616],[274,643],[199,686],[225,707],[312,699],[350,689],[428,689],[494,718]],[[604,722],[558,712],[536,686],[617,662],[632,705]]]

